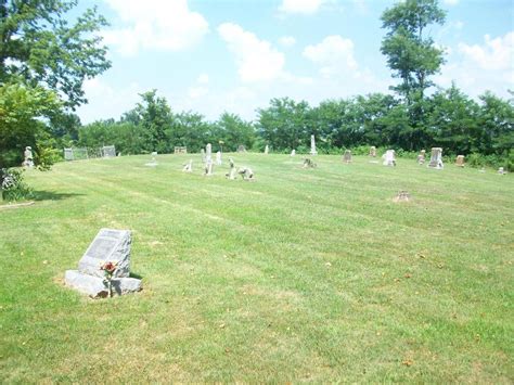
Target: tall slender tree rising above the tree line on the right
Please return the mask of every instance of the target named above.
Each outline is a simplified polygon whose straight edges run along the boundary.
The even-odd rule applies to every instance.
[[[444,63],[444,51],[425,30],[432,24],[442,25],[445,17],[437,0],[404,0],[382,14],[382,26],[388,31],[381,51],[387,56],[393,76],[401,79],[393,89],[407,104],[423,99],[424,91],[433,85],[429,76],[438,73]]]

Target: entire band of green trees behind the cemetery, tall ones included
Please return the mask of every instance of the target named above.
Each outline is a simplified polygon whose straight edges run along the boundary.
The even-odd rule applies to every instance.
[[[475,154],[514,168],[512,97],[485,92],[474,100],[455,85],[433,91],[431,77],[445,63],[427,34],[446,20],[437,0],[399,1],[382,15],[381,52],[399,80],[393,94],[316,106],[272,99],[253,121],[230,112],[209,121],[195,112],[172,111],[151,90],[118,119],[88,125],[74,111],[87,102],[83,80],[111,66],[97,34],[106,21],[91,9],[72,23],[65,14],[75,5],[75,0],[0,1],[0,168],[18,166],[26,145],[44,167],[69,146],[114,144],[123,154],[143,154],[170,153],[176,145],[197,152],[210,142],[224,151],[239,145],[262,151],[268,144],[275,152],[307,152],[311,134],[320,153],[362,145],[407,152],[442,146],[446,154]]]

